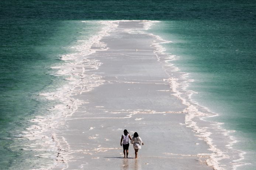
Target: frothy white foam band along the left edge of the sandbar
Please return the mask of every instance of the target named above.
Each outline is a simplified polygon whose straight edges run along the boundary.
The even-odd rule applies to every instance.
[[[29,147],[34,148],[33,150],[49,151],[49,148],[51,148],[51,151],[56,153],[56,158],[53,158],[55,163],[49,169],[59,166],[59,164],[65,164],[65,168],[68,167],[66,162],[68,158],[66,158],[65,152],[69,150],[69,145],[63,137],[57,138],[54,130],[62,126],[65,118],[72,116],[78,106],[86,103],[85,101],[75,100],[72,96],[93,90],[94,87],[104,83],[101,76],[87,73],[90,70],[97,70],[101,65],[99,60],[87,58],[87,56],[96,51],[107,50],[106,44],[100,42],[100,40],[114,31],[118,25],[113,21],[97,22],[103,24],[103,28],[97,35],[92,36],[89,40],[80,40],[79,45],[70,47],[71,50],[76,51],[75,53],[61,55],[60,59],[65,62],[61,65],[52,66],[52,69],[56,70],[52,75],[66,76],[65,80],[68,82],[53,93],[45,92],[40,95],[48,100],[59,101],[61,104],[48,109],[52,115],[38,116],[32,119],[31,122],[34,122],[34,125],[17,136],[18,138],[27,138],[31,142],[34,141],[34,144],[29,145]],[[92,49],[92,46],[97,47],[97,49]],[[39,156],[45,157],[46,155]]]

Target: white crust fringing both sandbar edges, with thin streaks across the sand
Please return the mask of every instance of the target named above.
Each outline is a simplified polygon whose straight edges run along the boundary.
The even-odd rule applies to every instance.
[[[87,21],[82,21],[87,22]],[[55,92],[52,93],[41,93],[42,97],[45,97],[48,100],[58,100],[62,104],[58,104],[50,108],[49,110],[52,112],[52,115],[46,116],[37,116],[31,120],[34,124],[31,127],[28,127],[26,131],[21,132],[18,136],[20,138],[27,138],[29,140],[35,141],[35,144],[30,147],[30,149],[38,151],[48,151],[51,148],[55,151],[56,156],[52,158],[51,154],[45,153],[44,155],[35,155],[42,158],[51,158],[54,159],[54,164],[47,168],[42,169],[51,169],[56,167],[58,164],[63,164],[67,166],[67,160],[70,158],[67,157],[66,150],[64,148],[69,148],[69,144],[65,141],[63,137],[56,137],[54,130],[64,125],[65,119],[73,119],[71,118],[72,114],[77,110],[77,108],[85,103],[86,101],[81,101],[72,98],[74,95],[82,94],[84,92],[88,92],[93,90],[94,87],[100,86],[104,83],[104,80],[99,75],[90,75],[87,74],[88,70],[97,70],[101,66],[101,62],[97,59],[89,59],[87,58],[88,55],[95,53],[98,50],[108,50],[106,44],[100,42],[100,40],[108,36],[110,32],[115,31],[118,26],[118,22],[132,22],[132,20],[120,20],[120,21],[95,21],[100,22],[103,26],[101,31],[96,35],[92,36],[89,40],[79,40],[79,46],[74,46],[72,49],[76,51],[76,53],[66,54],[60,56],[60,59],[65,61],[64,64],[53,66],[52,69],[56,70],[53,74],[55,76],[63,76],[67,83],[64,84],[62,87],[56,89]],[[169,79],[164,79],[166,83],[170,85],[170,91],[172,91],[174,96],[177,99],[181,100],[184,105],[187,106],[184,111],[181,112],[169,112],[169,113],[180,113],[186,114],[185,117],[185,125],[190,127],[195,135],[198,136],[201,140],[204,140],[208,146],[209,150],[212,151],[211,154],[204,154],[200,153],[198,155],[193,155],[197,157],[204,157],[207,158],[205,163],[208,166],[211,166],[214,170],[225,170],[227,169],[223,164],[220,164],[222,160],[230,159],[229,155],[215,146],[214,140],[211,138],[212,133],[208,131],[207,128],[200,127],[197,123],[197,120],[205,121],[205,117],[210,116],[218,116],[216,113],[211,113],[207,108],[200,106],[198,103],[192,100],[192,95],[196,92],[188,91],[187,87],[189,86],[190,82],[194,80],[188,79],[188,73],[180,73],[180,69],[173,65],[171,62],[179,59],[178,56],[167,54],[165,53],[165,48],[161,46],[164,43],[172,43],[172,41],[163,40],[161,37],[157,35],[153,35],[151,33],[147,33],[146,30],[150,29],[150,27],[158,23],[159,21],[141,21],[143,23],[143,29],[125,29],[124,32],[132,34],[132,33],[141,33],[141,34],[148,34],[154,37],[156,40],[152,42],[152,47],[154,48],[154,54],[158,58],[159,62],[162,62],[163,67],[166,69],[166,73],[169,75]],[[97,47],[93,49],[91,47]],[[139,49],[137,49],[139,50]],[[136,50],[136,51],[137,51]],[[164,58],[163,58],[164,56]],[[173,76],[172,73],[180,73],[180,77]],[[127,83],[136,83],[136,82],[127,82]],[[102,106],[97,106],[101,108]],[[203,111],[201,111],[203,110]],[[121,112],[116,112],[121,113]],[[166,112],[155,112],[151,110],[145,111],[128,111],[127,117],[84,117],[84,119],[125,119],[129,118],[132,115],[136,115],[138,113],[145,113],[145,114],[166,114]],[[74,118],[76,119],[76,118]],[[81,118],[80,118],[81,119]],[[137,117],[135,120],[140,121],[143,118]],[[235,144],[237,141],[230,133],[233,131],[225,130],[221,128],[221,124],[219,122],[210,122],[213,127],[219,128],[219,131],[222,131],[223,136],[229,139],[228,144],[226,147],[232,149],[232,145]],[[180,124],[180,126],[184,126],[184,124]],[[103,127],[103,126],[102,126]],[[89,130],[94,130],[94,127],[90,127]],[[116,131],[122,131],[122,129],[114,129]],[[50,135],[45,135],[50,134]],[[96,140],[98,137],[89,136],[90,140]],[[105,138],[105,141],[108,139]],[[26,148],[24,148],[26,149]],[[101,148],[100,146],[95,150],[95,152],[106,152],[110,149],[118,149],[118,148]],[[81,151],[72,151],[72,152],[81,152]],[[84,153],[90,154],[89,151],[83,151]],[[239,153],[239,158],[236,160],[232,160],[233,165],[231,169],[235,170],[237,167],[242,166],[241,161],[244,159],[245,152],[237,151]],[[165,153],[166,155],[173,155],[172,153]],[[182,155],[186,156],[186,155]],[[191,155],[187,155],[191,156]],[[98,157],[93,157],[93,159],[99,159]],[[81,165],[83,168],[84,165]],[[229,168],[228,168],[229,169]]]

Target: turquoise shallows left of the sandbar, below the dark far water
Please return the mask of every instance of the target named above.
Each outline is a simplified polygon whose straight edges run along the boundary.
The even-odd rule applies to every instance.
[[[39,94],[56,91],[65,83],[51,67],[63,63],[61,55],[75,52],[70,47],[77,40],[89,39],[100,28],[95,22],[40,21],[25,25],[17,21],[1,32],[0,169],[32,169],[52,161],[39,160],[38,164],[40,158],[33,156],[38,152],[21,150],[29,142],[15,136],[35,116],[51,114],[48,109],[59,101],[44,100]]]

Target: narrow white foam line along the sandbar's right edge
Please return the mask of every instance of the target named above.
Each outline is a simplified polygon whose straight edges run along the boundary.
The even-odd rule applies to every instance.
[[[139,29],[138,30],[129,29],[126,31],[128,33],[133,33],[133,34],[146,33]],[[172,95],[179,98],[181,102],[187,106],[187,109],[184,110],[184,112],[186,112],[185,124],[188,127],[191,127],[195,133],[199,133],[200,135],[198,136],[204,139],[204,141],[209,145],[210,150],[213,152],[210,158],[207,159],[206,163],[208,164],[208,166],[211,166],[214,170],[224,170],[225,168],[223,166],[219,166],[219,161],[223,159],[230,159],[230,157],[226,153],[221,151],[221,149],[218,149],[217,147],[215,147],[213,140],[210,138],[211,133],[207,132],[207,128],[201,129],[198,126],[197,122],[193,121],[193,119],[195,119],[196,117],[198,117],[199,120],[204,120],[206,117],[214,117],[214,116],[218,116],[218,114],[216,113],[208,114],[208,113],[202,113],[198,111],[197,107],[205,109],[205,111],[207,112],[210,112],[208,108],[200,106],[198,103],[192,101],[191,96],[197,92],[192,90],[187,90],[189,83],[194,81],[193,79],[187,79],[187,77],[189,76],[189,73],[179,72],[180,69],[174,66],[174,64],[170,63],[171,61],[175,61],[179,59],[179,57],[170,53],[165,53],[165,48],[162,46],[162,44],[172,43],[172,41],[164,40],[160,36],[156,36],[150,33],[146,33],[146,34],[157,39],[156,41],[152,41],[151,46],[154,48],[154,53],[158,58],[158,61],[164,65],[167,75],[170,75],[170,78],[164,79],[164,81],[170,84],[170,88],[172,89],[171,91],[174,92],[174,94]],[[181,74],[179,76],[179,79],[174,77],[172,72],[179,72],[179,74]],[[214,122],[214,123],[217,123],[217,122]],[[219,124],[217,126],[219,126]],[[225,135],[229,136],[231,140],[230,145],[236,142],[236,140],[232,139],[232,137],[229,135],[228,131],[226,131]],[[229,149],[231,149],[231,147],[229,147]],[[240,159],[237,159],[236,161],[240,161],[242,159],[243,159],[243,156],[242,154],[240,154]],[[237,165],[233,166],[233,169],[235,169],[236,166]]]

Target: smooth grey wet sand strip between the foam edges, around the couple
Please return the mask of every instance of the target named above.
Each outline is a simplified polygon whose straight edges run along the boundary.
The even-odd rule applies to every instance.
[[[146,34],[141,21],[117,23],[100,40],[107,49],[95,45],[96,52],[86,56],[101,63],[86,75],[103,83],[73,96],[83,104],[56,131],[65,164],[55,169],[212,169],[205,163],[209,147],[186,126],[187,106],[170,84],[167,72],[176,72],[155,53],[159,49],[152,44],[161,40]],[[124,129],[144,142],[138,159],[132,145],[129,158],[123,158]]]

